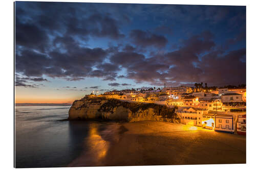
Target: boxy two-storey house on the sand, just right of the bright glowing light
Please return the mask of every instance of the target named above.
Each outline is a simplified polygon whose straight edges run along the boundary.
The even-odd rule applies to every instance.
[[[215,131],[234,132],[233,115],[216,114],[215,123]]]

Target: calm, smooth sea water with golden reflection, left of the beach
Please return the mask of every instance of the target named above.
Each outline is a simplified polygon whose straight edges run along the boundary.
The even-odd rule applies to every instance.
[[[84,160],[88,163],[85,166],[97,165],[95,160],[108,147],[102,136],[109,134],[108,127],[117,123],[58,121],[68,118],[69,108],[15,107],[16,167],[75,166],[75,160],[84,153],[90,157]],[[98,144],[96,150],[93,150],[95,143],[103,144]],[[90,162],[93,157],[94,162]]]

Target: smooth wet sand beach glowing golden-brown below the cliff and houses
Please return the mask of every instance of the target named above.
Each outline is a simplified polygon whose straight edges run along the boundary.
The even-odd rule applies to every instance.
[[[113,124],[105,133],[92,131],[84,142],[94,147],[69,166],[246,163],[245,136],[182,124]]]

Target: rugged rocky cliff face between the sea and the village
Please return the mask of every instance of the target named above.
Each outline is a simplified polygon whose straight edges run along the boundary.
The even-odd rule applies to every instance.
[[[175,109],[156,104],[130,103],[117,99],[85,97],[74,101],[69,110],[69,119],[105,119],[136,122],[156,120],[180,123]]]

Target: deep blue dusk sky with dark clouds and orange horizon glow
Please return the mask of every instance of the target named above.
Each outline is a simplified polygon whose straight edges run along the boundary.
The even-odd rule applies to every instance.
[[[246,84],[246,7],[15,2],[15,102]]]

